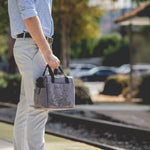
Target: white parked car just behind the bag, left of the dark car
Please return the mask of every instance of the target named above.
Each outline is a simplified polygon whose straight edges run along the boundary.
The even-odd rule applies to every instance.
[[[87,72],[94,67],[96,67],[96,65],[93,64],[71,64],[70,75],[77,77],[79,73]]]

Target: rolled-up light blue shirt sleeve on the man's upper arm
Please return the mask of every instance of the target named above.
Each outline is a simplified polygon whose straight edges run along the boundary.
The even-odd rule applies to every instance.
[[[34,0],[17,0],[20,15],[23,19],[37,16]]]

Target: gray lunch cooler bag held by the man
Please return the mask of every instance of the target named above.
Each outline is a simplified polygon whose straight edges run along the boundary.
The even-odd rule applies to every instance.
[[[49,75],[45,75],[46,69]],[[63,73],[63,70],[59,67]],[[49,65],[36,80],[34,104],[37,109],[62,110],[75,108],[75,87],[73,77],[54,75]]]

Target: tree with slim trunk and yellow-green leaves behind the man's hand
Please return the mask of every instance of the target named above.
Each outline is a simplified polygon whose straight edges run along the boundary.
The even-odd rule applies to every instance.
[[[70,45],[98,35],[102,11],[89,7],[88,0],[55,0],[53,4],[55,33],[62,39],[63,68],[69,68]]]

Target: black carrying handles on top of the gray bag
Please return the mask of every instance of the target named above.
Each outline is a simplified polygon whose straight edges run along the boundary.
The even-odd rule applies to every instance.
[[[43,76],[45,75],[45,72],[46,72],[46,69],[47,69],[47,68],[48,68],[49,74],[51,75],[51,81],[52,81],[52,83],[54,83],[54,81],[55,81],[54,73],[52,72],[52,69],[51,69],[51,67],[50,67],[48,64],[47,64],[46,67],[45,67],[45,70],[44,70],[44,72],[43,72]],[[64,74],[62,68],[59,66],[58,69],[59,69],[59,70],[61,71],[61,73],[65,76],[65,82],[66,82],[66,83],[69,83],[69,79],[68,79],[68,77]]]

